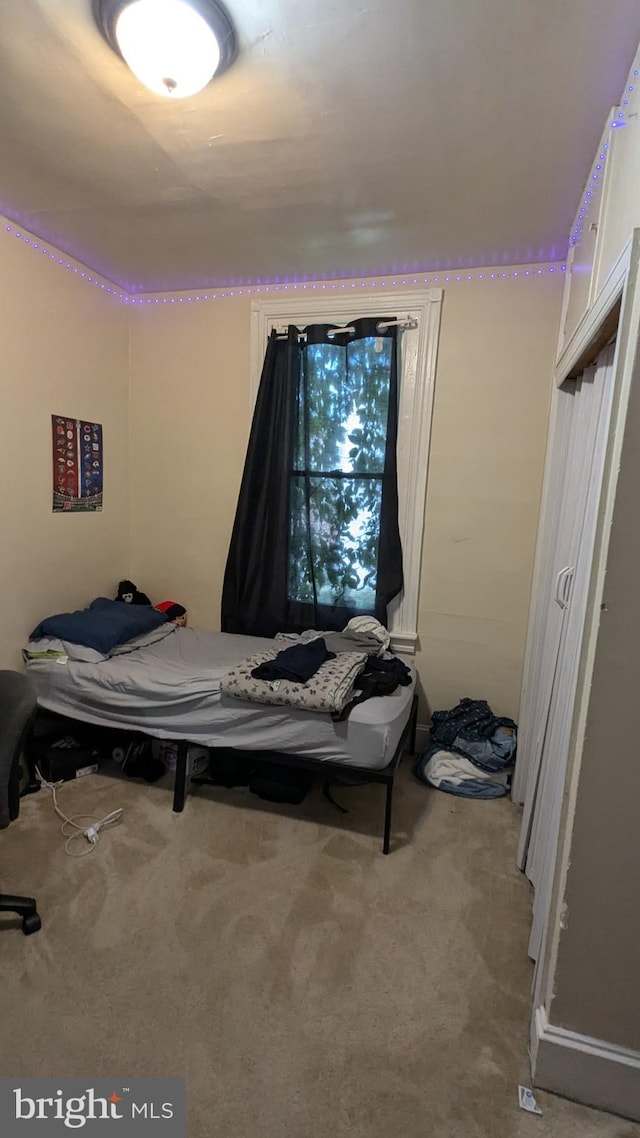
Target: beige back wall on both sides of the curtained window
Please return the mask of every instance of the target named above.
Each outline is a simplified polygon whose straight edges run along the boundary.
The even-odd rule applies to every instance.
[[[560,292],[559,273],[445,286],[417,657],[432,708],[470,695],[517,715]],[[131,319],[133,579],[219,628],[251,297]]]

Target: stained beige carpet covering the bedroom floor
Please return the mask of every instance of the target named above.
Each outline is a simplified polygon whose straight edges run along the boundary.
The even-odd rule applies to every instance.
[[[200,790],[68,783],[72,814],[125,808],[82,860],[50,797],[0,838],[5,890],[42,931],[0,929],[0,1071],[183,1074],[189,1138],[639,1138],[528,1083],[530,890],[518,811],[416,783],[394,848],[380,786],[300,807]]]

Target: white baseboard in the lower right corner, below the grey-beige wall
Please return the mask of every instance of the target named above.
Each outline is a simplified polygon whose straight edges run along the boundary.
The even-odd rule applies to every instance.
[[[538,1007],[531,1063],[534,1087],[640,1122],[640,1052],[556,1028]]]

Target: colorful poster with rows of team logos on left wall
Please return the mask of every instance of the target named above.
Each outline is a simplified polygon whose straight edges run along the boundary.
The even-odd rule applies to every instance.
[[[54,513],[102,509],[102,427],[51,415]]]

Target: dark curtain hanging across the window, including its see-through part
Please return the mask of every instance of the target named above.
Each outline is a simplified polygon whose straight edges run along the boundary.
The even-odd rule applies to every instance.
[[[271,332],[224,572],[223,632],[342,629],[363,613],[387,622],[402,589],[397,329],[380,322]]]

